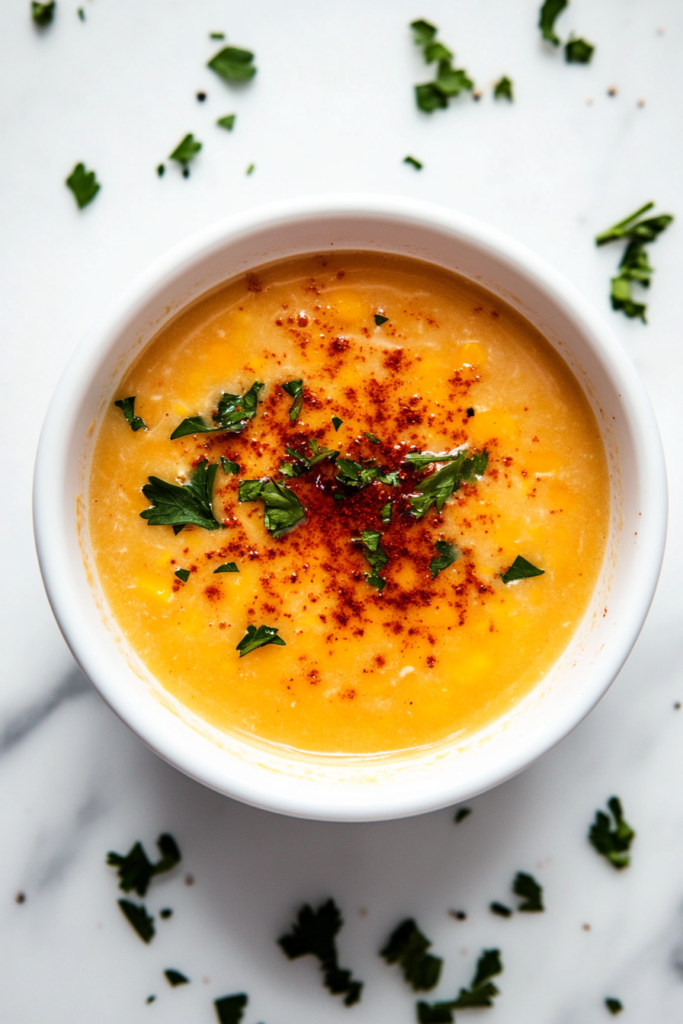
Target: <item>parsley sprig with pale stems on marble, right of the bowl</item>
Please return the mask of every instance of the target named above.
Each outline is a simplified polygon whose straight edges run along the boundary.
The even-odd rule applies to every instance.
[[[615,242],[628,239],[628,246],[618,265],[618,273],[611,280],[611,305],[612,309],[621,309],[626,316],[640,317],[643,324],[647,306],[642,302],[635,302],[632,294],[632,282],[637,282],[643,288],[649,288],[651,275],[654,272],[649,265],[645,245],[654,242],[661,231],[673,221],[673,217],[668,213],[660,213],[656,217],[646,217],[639,220],[643,213],[651,210],[654,203],[646,203],[640,210],[636,210],[630,217],[620,220],[613,227],[608,228],[598,234],[595,244],[604,246],[608,242]]]

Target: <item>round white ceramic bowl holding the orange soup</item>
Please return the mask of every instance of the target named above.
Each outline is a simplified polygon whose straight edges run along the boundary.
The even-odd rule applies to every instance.
[[[114,389],[142,346],[219,283],[297,253],[400,253],[477,282],[522,312],[582,383],[611,481],[610,534],[591,605],[548,676],[486,729],[413,755],[298,756],[221,733],[166,693],[108,609],[88,549],[88,469]],[[141,274],[85,338],[47,414],[36,465],[41,570],[59,627],[98,692],[154,751],[238,800],[300,817],[367,821],[466,800],[521,771],[596,705],[649,608],[667,523],[661,444],[640,380],[611,332],[556,270],[463,214],[413,200],[332,196],[220,221]]]

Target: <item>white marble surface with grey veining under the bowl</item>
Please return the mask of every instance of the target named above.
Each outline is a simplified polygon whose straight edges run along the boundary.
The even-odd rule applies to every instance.
[[[445,956],[438,994],[469,980],[482,946],[505,973],[490,1024],[683,1018],[683,440],[681,233],[652,249],[650,324],[610,311],[617,252],[592,237],[648,199],[683,216],[680,0],[571,0],[558,22],[597,43],[569,67],[540,42],[539,0],[58,0],[38,35],[27,0],[0,5],[2,287],[2,683],[0,1019],[7,1024],[215,1021],[212,1000],[246,991],[245,1024],[413,1021],[414,1000],[377,957],[415,914]],[[432,19],[484,87],[431,118],[408,23]],[[211,30],[252,47],[259,73],[231,91],[204,68]],[[659,31],[657,31],[659,30]],[[507,73],[512,106],[490,83]],[[607,96],[607,87],[618,89]],[[199,89],[208,92],[200,104]],[[588,98],[593,102],[589,103]],[[637,105],[638,99],[645,105]],[[213,127],[236,111],[232,134]],[[205,143],[189,180],[156,165],[187,131]],[[421,173],[402,165],[408,153]],[[102,182],[79,212],[63,186],[76,161]],[[256,171],[245,175],[254,162]],[[524,774],[471,803],[405,821],[301,822],[241,806],[150,754],[76,669],[45,599],[31,527],[31,475],[44,410],[80,336],[139,269],[212,219],[285,196],[407,194],[457,207],[523,240],[609,318],[654,402],[671,474],[672,528],[652,612],[600,707]],[[617,793],[638,830],[633,865],[589,847],[595,809]],[[109,849],[152,852],[173,833],[183,870],[148,905],[175,909],[144,946],[116,906]],[[519,869],[547,912],[510,921]],[[185,871],[196,879],[183,884]],[[15,894],[26,893],[26,902]],[[367,985],[346,1010],[312,962],[274,939],[304,900],[333,895],[344,966]],[[467,911],[458,922],[450,908]],[[361,913],[360,911],[367,911]],[[590,931],[583,928],[591,926]],[[170,989],[177,968],[191,984]],[[152,1006],[145,997],[157,993]],[[474,1019],[463,1014],[459,1020]]]

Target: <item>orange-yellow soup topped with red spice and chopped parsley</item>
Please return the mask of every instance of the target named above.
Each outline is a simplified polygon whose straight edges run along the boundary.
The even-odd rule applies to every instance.
[[[344,753],[465,734],[586,611],[609,518],[595,417],[538,331],[455,274],[270,264],[177,315],[114,397],[99,580],[150,671],[221,729]]]

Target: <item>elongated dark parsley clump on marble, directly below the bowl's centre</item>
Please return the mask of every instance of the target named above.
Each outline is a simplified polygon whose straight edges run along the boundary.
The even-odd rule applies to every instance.
[[[354,981],[350,971],[339,967],[335,938],[344,924],[334,900],[322,903],[317,910],[305,903],[289,935],[278,939],[290,959],[311,955],[319,961],[323,984],[333,995],[343,995],[344,1006],[360,1000],[361,981]]]

